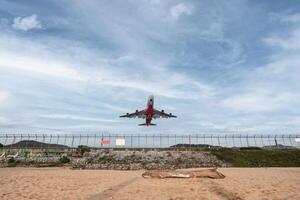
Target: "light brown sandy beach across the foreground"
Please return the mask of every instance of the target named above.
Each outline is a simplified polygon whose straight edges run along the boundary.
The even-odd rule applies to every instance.
[[[300,199],[300,168],[221,168],[225,179],[144,179],[144,171],[2,168],[0,199]]]

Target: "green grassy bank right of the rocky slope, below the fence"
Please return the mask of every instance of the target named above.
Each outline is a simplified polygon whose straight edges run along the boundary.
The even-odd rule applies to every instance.
[[[298,149],[221,148],[211,152],[234,167],[300,167]]]

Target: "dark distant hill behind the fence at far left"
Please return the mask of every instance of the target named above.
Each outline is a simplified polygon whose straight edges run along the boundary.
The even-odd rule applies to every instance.
[[[61,144],[49,144],[44,142],[38,142],[34,140],[22,140],[15,144],[6,145],[8,148],[69,148],[66,145]]]

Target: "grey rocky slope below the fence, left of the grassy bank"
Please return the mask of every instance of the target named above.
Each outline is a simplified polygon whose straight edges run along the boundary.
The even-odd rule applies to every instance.
[[[80,169],[181,169],[219,167],[225,164],[205,151],[113,151],[86,152],[82,158],[71,159],[73,168]]]

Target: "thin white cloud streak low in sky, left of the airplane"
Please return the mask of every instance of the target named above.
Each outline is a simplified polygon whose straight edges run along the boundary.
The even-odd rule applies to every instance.
[[[85,116],[70,115],[70,114],[48,114],[48,115],[40,115],[40,117],[47,118],[47,119],[64,119],[64,120],[78,120],[78,121],[119,122],[119,120],[102,119],[96,117],[85,117]]]

